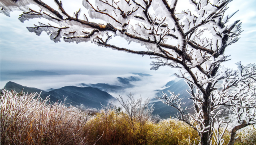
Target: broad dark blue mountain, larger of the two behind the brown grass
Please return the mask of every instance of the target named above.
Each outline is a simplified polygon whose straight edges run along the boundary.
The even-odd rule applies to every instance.
[[[43,97],[49,95],[51,102],[56,102],[56,100],[63,101],[65,96],[67,97],[65,103],[71,103],[72,105],[84,104],[85,106],[93,108],[101,108],[101,104],[107,105],[108,101],[116,100],[116,98],[109,93],[94,87],[65,86],[44,93]]]

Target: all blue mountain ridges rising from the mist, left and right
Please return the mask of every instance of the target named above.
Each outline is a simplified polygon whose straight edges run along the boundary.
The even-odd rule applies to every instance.
[[[65,96],[67,97],[66,103],[71,103],[72,105],[80,105],[82,103],[88,107],[101,108],[101,104],[106,105],[108,101],[116,100],[116,98],[114,98],[109,94],[110,92],[117,93],[117,92],[121,92],[125,88],[133,87],[133,85],[130,84],[130,82],[140,81],[140,78],[134,77],[134,76],[130,76],[127,78],[117,77],[117,80],[119,81],[120,85],[110,85],[110,84],[104,84],[104,83],[98,83],[98,84],[81,83],[79,84],[80,87],[65,86],[58,89],[50,88],[47,91],[44,91],[38,88],[22,86],[22,85],[16,84],[15,82],[7,82],[5,88],[7,90],[15,90],[16,92],[21,92],[22,89],[23,89],[23,92],[27,92],[27,93],[41,92],[41,97],[43,99],[50,95],[51,102],[56,102],[56,100],[63,101],[63,96]],[[193,106],[193,101],[188,99],[190,98],[190,96],[186,90],[189,90],[189,88],[184,80],[181,79],[178,81],[170,81],[170,82],[167,82],[167,84],[164,85],[163,87],[164,89],[162,90],[155,90],[157,96],[162,95],[162,92],[167,93],[167,95],[169,95],[170,93],[168,92],[168,90],[170,90],[175,94],[180,93],[180,97],[184,98],[182,101],[186,102],[186,104],[183,105],[184,107]],[[154,104],[154,107],[155,107],[153,114],[159,114],[161,118],[169,118],[170,116],[175,117],[175,114],[177,114],[176,109],[163,104],[161,101],[154,98],[154,96],[151,96],[151,97],[152,97],[151,99],[152,102],[150,103],[150,105]],[[193,113],[193,112],[190,112],[190,113]]]

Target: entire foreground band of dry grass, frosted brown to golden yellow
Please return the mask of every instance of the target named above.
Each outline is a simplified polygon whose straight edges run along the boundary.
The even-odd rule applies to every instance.
[[[139,118],[130,125],[128,115],[111,106],[101,111],[84,106],[49,104],[37,94],[3,90],[1,105],[1,144],[24,145],[193,145],[197,132],[176,119]],[[91,114],[91,115],[88,115]],[[126,117],[127,116],[127,117]],[[161,120],[159,122],[159,120]],[[226,131],[225,143],[229,140]],[[256,129],[241,130],[235,145],[255,145]],[[96,142],[97,141],[97,142]]]

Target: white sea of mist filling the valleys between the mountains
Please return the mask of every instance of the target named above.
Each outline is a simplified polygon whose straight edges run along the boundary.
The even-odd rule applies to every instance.
[[[140,81],[132,81],[131,85],[134,87],[126,88],[118,92],[108,92],[113,97],[118,95],[123,98],[127,98],[129,93],[132,93],[135,98],[142,97],[143,100],[146,98],[155,97],[155,90],[163,89],[162,87],[169,81],[177,79],[173,73],[160,74],[152,71],[151,76],[139,76],[132,73],[125,74],[69,74],[69,75],[54,75],[54,76],[16,76],[16,79],[2,80],[1,88],[4,88],[5,84],[9,81],[15,82],[22,86],[35,87],[41,90],[48,90],[50,88],[61,88],[64,86],[81,86],[84,84],[97,84],[105,83],[110,85],[123,84],[118,81],[117,77],[128,78],[130,76],[137,77]],[[2,77],[2,76],[1,76]]]

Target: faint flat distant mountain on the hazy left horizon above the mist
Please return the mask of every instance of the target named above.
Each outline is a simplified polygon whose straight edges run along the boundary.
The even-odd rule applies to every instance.
[[[54,72],[49,72],[49,71],[35,70],[35,71],[26,71],[26,72],[20,72],[20,73],[10,73],[9,75],[20,75],[20,76],[47,76],[47,75],[60,75],[60,74],[54,73]]]

